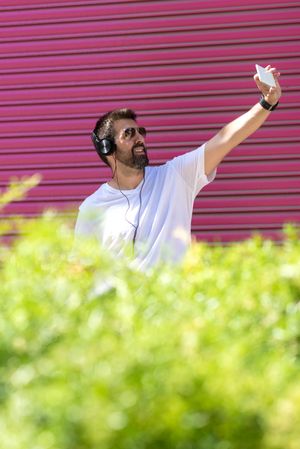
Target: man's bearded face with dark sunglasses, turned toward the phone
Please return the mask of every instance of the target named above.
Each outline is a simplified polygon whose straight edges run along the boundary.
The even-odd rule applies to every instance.
[[[145,135],[131,119],[120,119],[114,123],[117,161],[130,168],[143,169],[149,164]]]

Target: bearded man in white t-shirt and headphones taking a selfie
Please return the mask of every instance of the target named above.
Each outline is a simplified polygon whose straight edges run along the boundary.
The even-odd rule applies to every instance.
[[[271,66],[276,87],[254,80],[261,100],[222,128],[198,149],[149,167],[146,130],[129,109],[111,111],[96,123],[93,141],[111,168],[111,179],[81,204],[76,235],[94,235],[114,254],[134,249],[136,266],[146,270],[159,261],[179,262],[191,241],[193,203],[215,177],[223,158],[256,131],[281,96],[280,73]]]

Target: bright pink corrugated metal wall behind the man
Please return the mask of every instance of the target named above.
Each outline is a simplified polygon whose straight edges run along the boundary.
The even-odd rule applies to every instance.
[[[43,175],[6,214],[76,206],[109,177],[90,141],[107,110],[134,108],[162,163],[257,102],[254,64],[271,63],[280,107],[196,200],[193,232],[279,238],[300,222],[299,1],[10,0],[0,12],[0,188]]]

